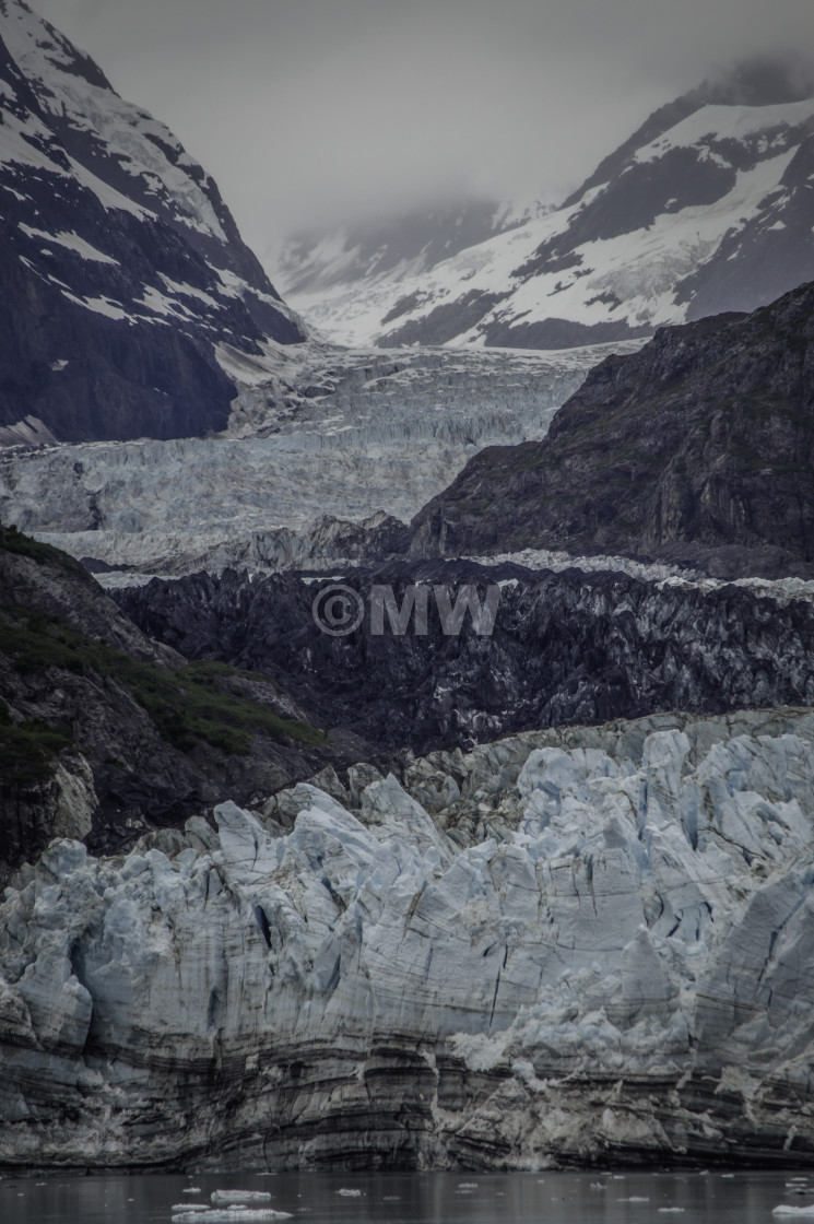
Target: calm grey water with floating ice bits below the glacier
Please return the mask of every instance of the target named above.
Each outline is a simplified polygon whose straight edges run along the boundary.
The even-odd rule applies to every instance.
[[[804,1173],[218,1174],[206,1176],[6,1177],[0,1224],[170,1224],[174,1203],[213,1190],[264,1190],[293,1224],[771,1224]],[[808,1174],[814,1187],[814,1174]],[[184,1193],[197,1186],[201,1193]],[[361,1191],[359,1196],[340,1190]],[[640,1200],[637,1202],[635,1200]],[[666,1212],[665,1208],[683,1208]],[[814,1220],[814,1217],[808,1217]],[[805,1220],[805,1217],[803,1217]]]

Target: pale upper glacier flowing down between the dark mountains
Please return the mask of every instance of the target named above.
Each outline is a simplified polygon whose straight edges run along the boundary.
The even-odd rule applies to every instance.
[[[545,436],[589,368],[624,348],[222,351],[240,387],[224,435],[9,447],[0,517],[126,581],[332,564],[326,519],[409,520],[482,447]]]

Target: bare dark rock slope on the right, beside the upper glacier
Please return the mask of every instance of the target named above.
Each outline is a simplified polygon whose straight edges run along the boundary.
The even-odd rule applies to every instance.
[[[814,284],[608,357],[542,442],[475,455],[411,532],[417,556],[543,547],[814,574]]]

